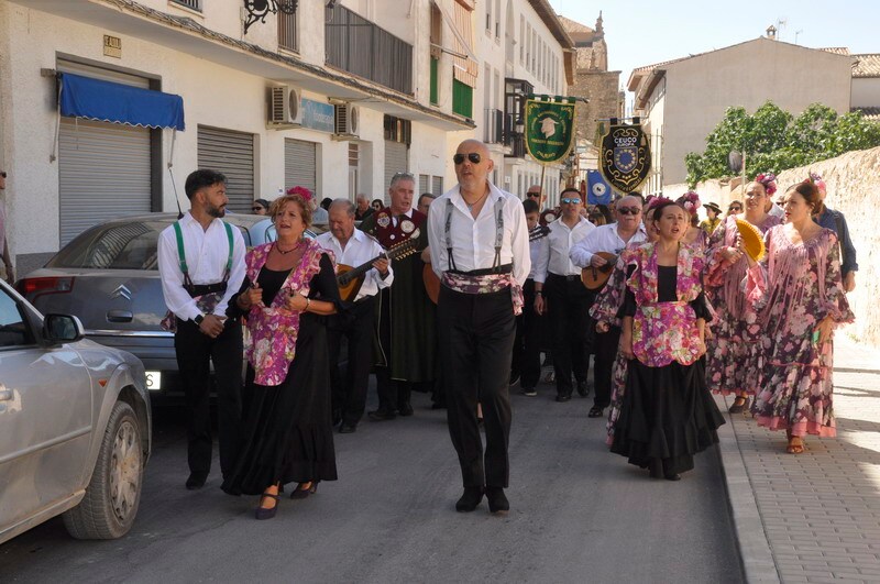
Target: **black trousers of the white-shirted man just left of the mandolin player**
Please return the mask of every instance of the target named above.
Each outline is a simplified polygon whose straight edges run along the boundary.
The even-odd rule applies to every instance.
[[[571,376],[586,382],[592,350],[590,307],[595,295],[587,290],[576,276],[548,274],[544,299],[553,339],[553,371],[557,375],[557,394],[571,396]]]

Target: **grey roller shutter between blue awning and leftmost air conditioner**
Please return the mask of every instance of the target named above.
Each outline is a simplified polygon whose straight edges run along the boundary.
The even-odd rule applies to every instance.
[[[254,199],[254,135],[199,125],[199,168],[210,168],[227,177],[228,208],[250,213]]]

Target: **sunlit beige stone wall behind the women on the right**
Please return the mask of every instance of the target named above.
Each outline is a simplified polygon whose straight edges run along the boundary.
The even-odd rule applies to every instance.
[[[848,152],[807,167],[783,170],[778,176],[779,189],[806,178],[809,172],[822,175],[827,185],[825,203],[846,216],[853,244],[859,263],[856,289],[849,294],[849,304],[856,313],[856,322],[843,332],[853,339],[880,349],[880,229],[875,221],[880,200],[880,147]],[[739,192],[738,180],[734,185]],[[715,201],[723,209],[736,197],[730,195],[732,185],[719,180],[707,180],[696,187],[703,202]],[[688,190],[686,185],[663,187],[664,195],[678,196]],[[741,197],[739,197],[741,199]],[[776,197],[774,197],[776,198]]]

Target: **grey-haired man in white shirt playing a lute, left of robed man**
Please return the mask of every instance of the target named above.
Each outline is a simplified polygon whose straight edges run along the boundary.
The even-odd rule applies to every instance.
[[[344,434],[354,432],[364,415],[373,353],[376,294],[392,285],[394,273],[387,258],[375,260],[384,253],[378,241],[354,228],[354,203],[349,199],[336,199],[330,203],[328,213],[330,231],[318,235],[317,241],[321,247],[333,252],[337,265],[358,268],[374,260],[372,267],[363,275],[356,295],[343,304],[343,310],[329,317],[327,326],[333,423],[339,423],[339,431]],[[344,375],[339,367],[342,337],[348,339]]]

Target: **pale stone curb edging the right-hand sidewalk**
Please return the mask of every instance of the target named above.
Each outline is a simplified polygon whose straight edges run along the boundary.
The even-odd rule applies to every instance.
[[[727,422],[718,428],[718,451],[722,458],[722,473],[727,486],[727,499],[736,530],[743,573],[746,582],[779,583],[779,572],[758,510],[751,480],[743,460],[743,452],[739,450],[734,420],[727,412],[726,398],[714,397]]]

